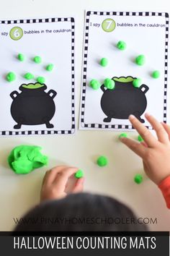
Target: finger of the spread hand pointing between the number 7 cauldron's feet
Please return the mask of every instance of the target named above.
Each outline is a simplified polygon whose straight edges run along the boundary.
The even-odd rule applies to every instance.
[[[133,115],[129,116],[129,120],[133,127],[138,131],[138,133],[143,137],[148,147],[155,147],[158,141],[156,138],[149,132],[149,130],[142,124],[140,121]]]

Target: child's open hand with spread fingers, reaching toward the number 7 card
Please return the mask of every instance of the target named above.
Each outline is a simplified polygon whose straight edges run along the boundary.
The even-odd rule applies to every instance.
[[[149,114],[146,114],[146,119],[156,131],[158,140],[133,115],[130,115],[129,120],[143,137],[144,142],[139,143],[126,137],[122,137],[120,140],[143,159],[146,174],[153,182],[159,184],[167,176],[170,176],[170,127],[167,124],[159,123]]]

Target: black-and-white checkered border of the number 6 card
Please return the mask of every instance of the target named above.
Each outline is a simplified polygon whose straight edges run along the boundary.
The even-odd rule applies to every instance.
[[[74,74],[74,43],[75,43],[75,22],[73,17],[48,18],[31,20],[0,20],[0,24],[25,24],[40,22],[71,22],[71,129],[70,130],[40,130],[40,131],[0,131],[2,135],[68,135],[75,132],[75,74]]]

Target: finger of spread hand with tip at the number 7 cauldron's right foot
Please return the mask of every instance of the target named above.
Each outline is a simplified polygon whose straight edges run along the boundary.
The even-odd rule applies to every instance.
[[[162,143],[169,142],[169,136],[167,132],[165,131],[164,127],[161,125],[161,123],[156,120],[154,116],[151,116],[150,114],[145,114],[146,119],[149,121],[153,129],[156,131],[156,135],[158,137],[158,140]]]

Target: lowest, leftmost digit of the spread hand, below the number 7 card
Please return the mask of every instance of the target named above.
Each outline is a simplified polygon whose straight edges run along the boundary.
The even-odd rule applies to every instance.
[[[127,145],[128,148],[133,150],[133,152],[135,152],[137,155],[139,155],[140,158],[144,158],[144,156],[146,154],[146,150],[147,150],[147,148],[145,146],[143,146],[141,143],[139,143],[135,140],[131,140],[127,137],[121,137],[120,140],[125,145]]]

